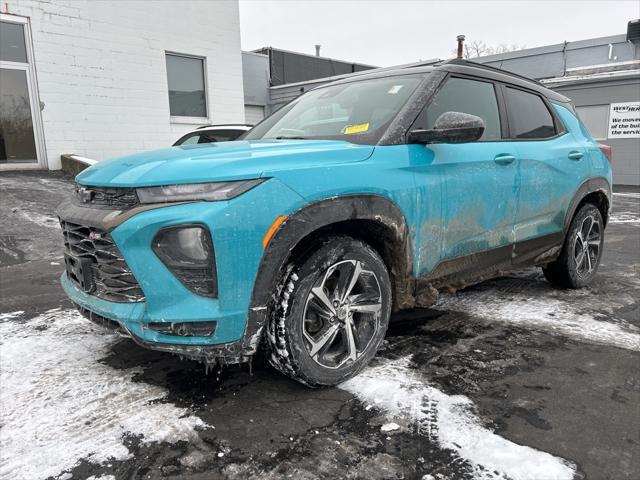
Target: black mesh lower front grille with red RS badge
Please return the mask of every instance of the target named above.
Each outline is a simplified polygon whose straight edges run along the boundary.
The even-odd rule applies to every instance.
[[[86,262],[92,284],[87,293],[112,302],[139,302],[144,293],[108,232],[60,221],[67,253]]]

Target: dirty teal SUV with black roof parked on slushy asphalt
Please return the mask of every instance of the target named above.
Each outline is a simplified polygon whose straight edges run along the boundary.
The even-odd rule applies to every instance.
[[[334,385],[391,312],[513,268],[596,274],[608,157],[571,102],[464,61],[304,93],[242,140],[100,162],[58,211],[69,298],[207,364]]]

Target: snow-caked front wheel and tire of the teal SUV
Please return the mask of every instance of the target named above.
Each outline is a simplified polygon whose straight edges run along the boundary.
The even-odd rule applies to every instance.
[[[382,343],[391,282],[373,248],[335,236],[287,266],[274,300],[266,336],[269,363],[307,386],[333,386],[357,375]]]

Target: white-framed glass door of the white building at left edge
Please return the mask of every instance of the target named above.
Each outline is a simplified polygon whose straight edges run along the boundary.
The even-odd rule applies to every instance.
[[[0,17],[0,169],[44,163],[27,27],[22,17]]]

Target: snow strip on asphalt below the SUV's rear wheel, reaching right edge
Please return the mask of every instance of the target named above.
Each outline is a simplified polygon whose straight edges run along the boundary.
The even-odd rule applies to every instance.
[[[590,301],[588,291],[554,298],[536,291],[497,292],[472,289],[442,295],[437,310],[473,315],[487,322],[502,322],[574,340],[640,351],[640,329],[624,320],[604,321],[579,310]]]

